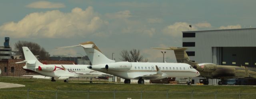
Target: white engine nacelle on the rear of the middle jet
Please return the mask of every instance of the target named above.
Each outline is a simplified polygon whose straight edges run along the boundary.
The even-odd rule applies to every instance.
[[[109,71],[128,71],[132,68],[132,64],[127,61],[108,63],[105,65],[105,69]]]

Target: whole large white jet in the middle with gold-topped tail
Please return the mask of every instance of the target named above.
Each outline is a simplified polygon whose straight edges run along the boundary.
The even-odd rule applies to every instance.
[[[139,84],[144,84],[144,79],[196,77],[200,75],[196,69],[186,63],[115,62],[108,59],[94,42],[84,42],[76,46],[82,46],[88,55],[92,63],[88,68],[121,77],[125,79],[124,83],[130,83],[130,79],[138,79]],[[191,85],[190,81],[188,81],[188,85]]]

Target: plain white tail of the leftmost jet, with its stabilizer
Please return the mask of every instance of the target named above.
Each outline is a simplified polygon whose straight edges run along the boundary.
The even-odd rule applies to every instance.
[[[20,62],[16,62],[16,63],[24,63],[26,62],[26,66],[38,66],[38,65],[42,65],[42,63],[40,63],[38,61],[38,59],[35,57],[35,55],[28,49],[28,47],[22,47],[23,49],[23,53],[24,53],[24,57],[25,60],[24,61],[20,61]]]

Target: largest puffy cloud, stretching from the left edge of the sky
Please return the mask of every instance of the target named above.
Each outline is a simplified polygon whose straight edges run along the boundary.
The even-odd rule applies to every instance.
[[[52,10],[26,15],[19,22],[0,26],[0,36],[12,38],[70,38],[101,33],[108,22],[103,21],[92,7],[74,8],[70,13]],[[97,34],[100,36],[100,34]]]

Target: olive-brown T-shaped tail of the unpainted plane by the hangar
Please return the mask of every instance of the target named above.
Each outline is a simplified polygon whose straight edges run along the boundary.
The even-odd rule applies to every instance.
[[[174,54],[176,56],[176,60],[178,63],[188,63],[192,67],[194,67],[196,64],[193,61],[191,61],[188,57],[188,54],[186,53],[186,49],[188,48],[176,48],[176,47],[170,47],[170,48],[153,48],[153,49],[166,49],[166,50],[174,50]]]

